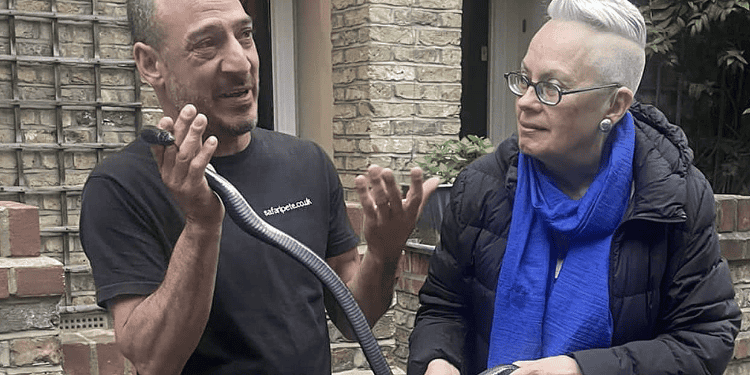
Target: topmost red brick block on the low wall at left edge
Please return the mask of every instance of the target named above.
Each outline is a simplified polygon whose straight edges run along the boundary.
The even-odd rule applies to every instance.
[[[7,227],[4,227],[6,225]],[[36,207],[18,202],[0,201],[0,233],[8,236],[6,244],[0,241],[0,254],[3,256],[39,256],[41,239],[39,237],[39,210]],[[9,249],[4,248],[8,245]]]

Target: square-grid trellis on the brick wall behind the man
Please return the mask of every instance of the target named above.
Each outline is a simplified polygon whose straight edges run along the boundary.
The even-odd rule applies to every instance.
[[[141,126],[130,39],[125,0],[0,0],[0,200],[39,207],[42,253],[65,265],[65,319],[99,310],[81,190]]]

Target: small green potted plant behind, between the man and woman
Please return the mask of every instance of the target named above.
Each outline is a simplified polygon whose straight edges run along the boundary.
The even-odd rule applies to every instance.
[[[417,164],[427,176],[438,176],[443,183],[453,183],[469,163],[494,149],[487,138],[469,134],[460,140],[449,139],[436,145],[424,161]]]

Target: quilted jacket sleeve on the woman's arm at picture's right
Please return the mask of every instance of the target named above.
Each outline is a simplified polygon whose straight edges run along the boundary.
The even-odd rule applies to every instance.
[[[714,229],[713,192],[694,167],[685,211],[672,234],[656,337],[572,353],[584,375],[723,373],[741,315]]]

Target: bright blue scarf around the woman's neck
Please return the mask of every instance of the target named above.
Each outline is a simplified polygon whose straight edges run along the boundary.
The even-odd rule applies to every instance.
[[[586,194],[570,199],[523,154],[497,281],[488,368],[611,345],[609,253],[632,182],[635,129],[627,113]],[[555,279],[557,249],[567,255]]]

